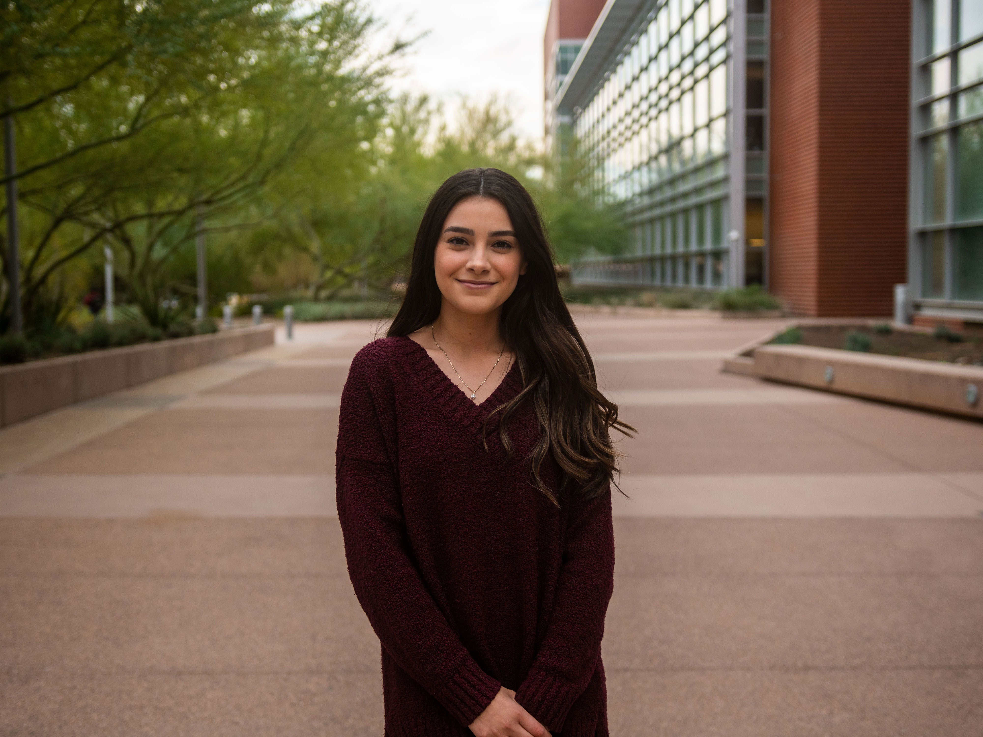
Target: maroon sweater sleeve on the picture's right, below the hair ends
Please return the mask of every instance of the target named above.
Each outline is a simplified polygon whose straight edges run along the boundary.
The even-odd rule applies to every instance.
[[[614,583],[610,487],[574,511],[546,636],[515,695],[551,732],[562,730],[597,669]]]

